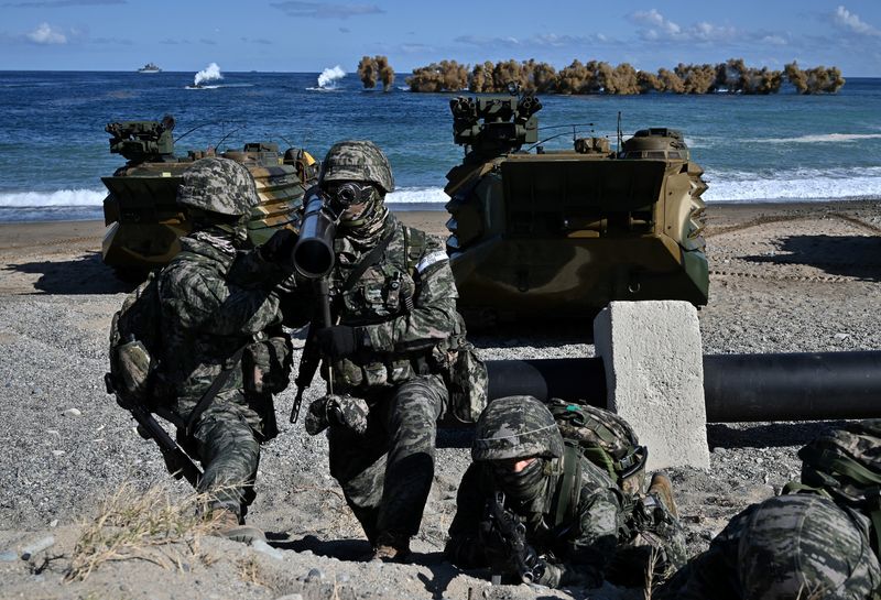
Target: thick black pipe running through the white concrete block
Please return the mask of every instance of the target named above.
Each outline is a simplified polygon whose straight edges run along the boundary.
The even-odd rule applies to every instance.
[[[606,406],[599,358],[490,360],[489,400],[561,397]],[[881,417],[881,351],[704,357],[709,423]]]

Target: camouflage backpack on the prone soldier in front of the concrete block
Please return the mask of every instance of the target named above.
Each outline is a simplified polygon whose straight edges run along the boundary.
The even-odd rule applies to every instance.
[[[606,471],[624,493],[642,491],[649,449],[640,446],[627,421],[610,411],[556,397],[545,404],[564,440],[577,446],[580,454]]]

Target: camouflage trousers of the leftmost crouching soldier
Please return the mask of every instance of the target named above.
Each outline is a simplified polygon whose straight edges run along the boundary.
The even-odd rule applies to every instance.
[[[192,406],[182,402],[188,414]],[[254,500],[254,479],[260,462],[263,423],[241,392],[215,397],[193,430],[191,446],[202,462],[198,491],[211,495],[209,509],[228,509],[240,517]]]

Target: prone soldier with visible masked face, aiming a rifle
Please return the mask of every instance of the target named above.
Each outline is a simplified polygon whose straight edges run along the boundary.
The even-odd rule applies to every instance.
[[[471,457],[444,550],[458,567],[592,588],[657,580],[685,560],[670,481],[656,474],[648,494],[623,493],[534,397],[492,401]]]

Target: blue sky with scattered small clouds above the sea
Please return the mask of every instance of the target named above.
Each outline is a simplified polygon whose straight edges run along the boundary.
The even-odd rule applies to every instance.
[[[0,0],[0,70],[352,72],[385,55],[399,74],[444,58],[744,58],[881,76],[881,2],[841,1]]]

